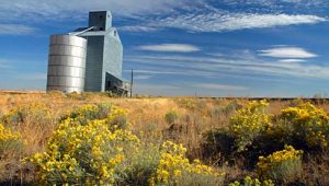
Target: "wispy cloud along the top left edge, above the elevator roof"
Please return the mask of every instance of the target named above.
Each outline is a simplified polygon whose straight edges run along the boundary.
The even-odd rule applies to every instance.
[[[1,2],[0,19],[50,19],[79,18],[90,10],[110,10],[115,14],[134,16],[171,11],[189,0],[10,0]],[[8,16],[10,15],[10,16]]]

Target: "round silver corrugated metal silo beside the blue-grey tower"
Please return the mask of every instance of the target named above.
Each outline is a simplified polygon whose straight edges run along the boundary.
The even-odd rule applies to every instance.
[[[87,39],[75,35],[52,35],[47,91],[83,92]]]

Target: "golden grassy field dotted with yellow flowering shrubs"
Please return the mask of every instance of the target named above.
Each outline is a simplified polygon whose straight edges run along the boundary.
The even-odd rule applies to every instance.
[[[326,100],[0,92],[0,184],[329,185]]]

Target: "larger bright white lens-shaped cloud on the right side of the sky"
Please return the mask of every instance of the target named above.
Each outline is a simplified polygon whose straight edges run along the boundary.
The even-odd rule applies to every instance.
[[[259,50],[260,56],[273,58],[314,58],[316,54],[307,51],[300,47],[275,47],[271,49]]]

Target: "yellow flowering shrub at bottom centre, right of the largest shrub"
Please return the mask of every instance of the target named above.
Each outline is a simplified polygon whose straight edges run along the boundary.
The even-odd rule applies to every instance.
[[[225,173],[203,165],[198,160],[193,163],[185,158],[186,149],[182,144],[166,141],[162,144],[160,161],[150,185],[219,185]],[[186,184],[186,183],[191,184]]]

